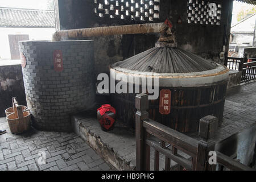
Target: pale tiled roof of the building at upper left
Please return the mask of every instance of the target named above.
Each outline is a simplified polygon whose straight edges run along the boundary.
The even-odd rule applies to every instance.
[[[0,7],[0,27],[55,27],[54,11]]]

